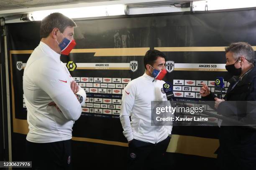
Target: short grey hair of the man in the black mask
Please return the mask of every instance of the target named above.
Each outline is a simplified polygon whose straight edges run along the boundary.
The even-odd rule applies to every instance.
[[[254,50],[250,44],[247,42],[234,42],[228,47],[225,47],[225,52],[232,52],[235,60],[243,56],[246,60],[253,63],[254,60]]]

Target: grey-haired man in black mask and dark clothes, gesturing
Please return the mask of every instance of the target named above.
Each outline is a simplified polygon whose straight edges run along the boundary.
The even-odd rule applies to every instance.
[[[225,52],[226,70],[233,75],[228,81],[230,85],[227,94],[223,99],[219,99],[210,92],[205,83],[202,83],[200,91],[202,99],[215,100],[215,109],[218,114],[235,118],[243,123],[250,121],[255,124],[256,67],[253,61],[254,50],[246,42],[236,42],[226,47]],[[241,103],[244,104],[241,105]],[[227,122],[225,124],[224,122],[225,120],[220,125],[219,136],[218,165],[220,169],[255,170],[256,130],[246,126],[229,126],[226,124]]]

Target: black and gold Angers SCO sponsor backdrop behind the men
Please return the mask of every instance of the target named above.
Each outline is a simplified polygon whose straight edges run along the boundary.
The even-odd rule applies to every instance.
[[[201,82],[214,90],[215,77],[229,78],[224,47],[238,41],[256,45],[255,14],[255,10],[241,10],[77,20],[77,46],[69,56],[61,56],[87,92],[82,115],[73,127],[74,168],[125,168],[128,145],[119,120],[121,97],[123,88],[144,73],[148,49],[166,54],[165,80],[173,84],[176,100],[201,100]],[[40,42],[40,22],[7,26],[13,160],[24,160],[28,124],[22,76]],[[174,127],[165,164],[215,169],[218,145],[216,126]]]

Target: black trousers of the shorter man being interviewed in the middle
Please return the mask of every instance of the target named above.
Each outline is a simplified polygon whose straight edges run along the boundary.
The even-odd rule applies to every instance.
[[[164,155],[170,137],[152,144],[133,139],[128,147],[128,170],[158,170],[164,166]]]

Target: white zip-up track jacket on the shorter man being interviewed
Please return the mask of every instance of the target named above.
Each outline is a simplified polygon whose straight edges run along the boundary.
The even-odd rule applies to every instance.
[[[159,143],[172,132],[172,126],[151,126],[151,101],[167,100],[161,92],[165,82],[153,80],[153,77],[145,73],[129,82],[123,90],[120,121],[128,141],[136,139]]]

